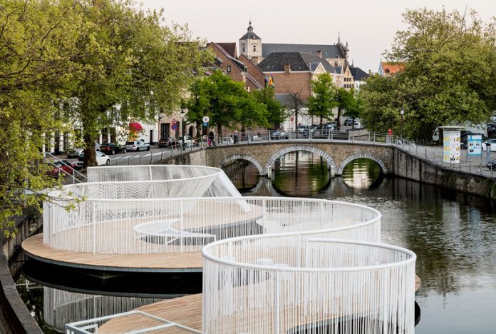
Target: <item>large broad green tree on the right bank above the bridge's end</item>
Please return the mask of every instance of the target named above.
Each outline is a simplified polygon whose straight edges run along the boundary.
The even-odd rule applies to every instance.
[[[386,52],[388,60],[403,64],[403,71],[367,81],[366,111],[399,123],[403,108],[405,136],[419,139],[427,139],[436,126],[487,121],[496,108],[494,24],[483,24],[475,11],[465,15],[445,9],[409,10],[403,18],[409,27],[396,33]]]

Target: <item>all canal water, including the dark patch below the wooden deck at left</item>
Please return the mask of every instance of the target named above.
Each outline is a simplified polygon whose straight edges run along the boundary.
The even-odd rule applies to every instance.
[[[325,160],[309,152],[288,153],[274,166],[272,180],[260,178],[257,168],[247,161],[236,161],[224,171],[246,196],[326,198],[376,208],[383,215],[383,242],[408,248],[418,256],[422,285],[415,300],[421,318],[415,333],[496,333],[496,203],[385,177],[377,163],[367,159],[352,161],[337,178],[329,177]],[[161,291],[163,284],[158,282],[150,281],[157,291],[133,291],[135,283],[126,288],[128,278],[118,289],[98,286],[98,280],[90,288],[90,278],[78,283],[73,282],[74,275],[54,275],[58,281],[53,281],[39,278],[43,271],[51,270],[27,265],[26,275],[17,283],[21,298],[45,333],[63,330],[65,322],[103,315],[103,308],[113,314],[175,296],[173,291]],[[42,284],[26,280],[34,276]],[[182,285],[191,287],[192,283]]]

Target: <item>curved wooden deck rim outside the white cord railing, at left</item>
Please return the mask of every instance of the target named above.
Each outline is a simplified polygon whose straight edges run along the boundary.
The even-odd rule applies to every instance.
[[[91,254],[61,251],[43,243],[43,233],[32,236],[22,243],[22,249],[29,258],[65,265],[73,268],[98,269],[109,271],[141,271],[148,273],[201,272],[202,253],[167,254]]]

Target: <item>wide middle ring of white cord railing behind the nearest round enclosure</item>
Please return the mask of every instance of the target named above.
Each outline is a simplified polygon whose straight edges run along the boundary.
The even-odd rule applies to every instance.
[[[66,251],[149,254],[200,251],[224,238],[289,233],[379,241],[381,213],[353,203],[310,198],[52,199],[43,243]],[[249,210],[247,210],[247,208]]]

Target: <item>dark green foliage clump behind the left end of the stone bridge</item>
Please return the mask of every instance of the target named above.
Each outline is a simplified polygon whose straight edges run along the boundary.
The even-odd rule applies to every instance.
[[[190,86],[190,99],[187,121],[200,121],[203,116],[210,117],[210,124],[217,126],[217,133],[222,134],[221,126],[234,128],[268,126],[267,107],[250,95],[241,82],[233,81],[220,70],[210,76],[197,79]]]

